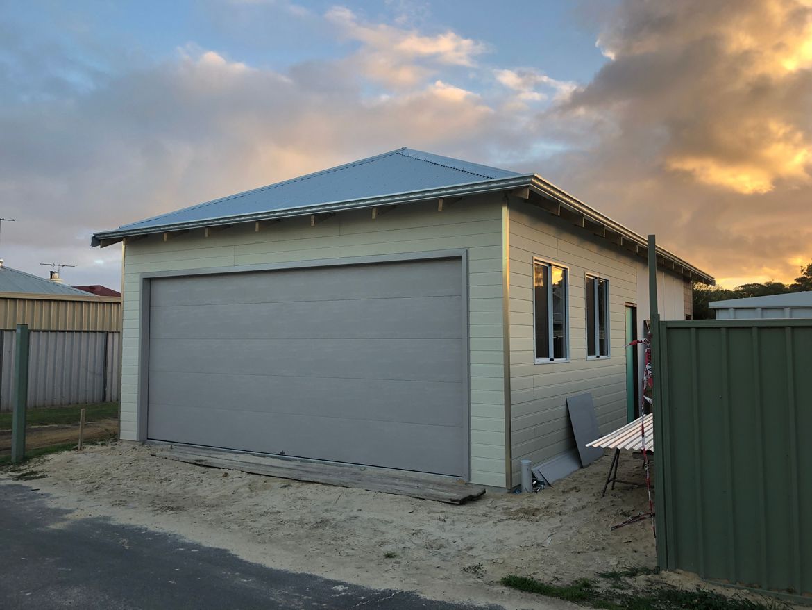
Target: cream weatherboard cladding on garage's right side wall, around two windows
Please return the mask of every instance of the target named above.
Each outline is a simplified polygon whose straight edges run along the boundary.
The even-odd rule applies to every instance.
[[[590,392],[602,433],[626,423],[626,303],[637,303],[637,259],[605,240],[572,227],[546,211],[524,203],[509,207],[510,363],[512,476],[518,481],[519,460],[539,464],[574,447],[566,399]],[[560,264],[569,271],[569,361],[534,364],[533,258]],[[586,276],[609,281],[610,355],[587,359]],[[676,299],[670,309],[684,308],[680,277],[663,273]],[[672,286],[673,285],[673,286]],[[644,318],[640,318],[642,320]],[[640,333],[638,329],[638,334]]]

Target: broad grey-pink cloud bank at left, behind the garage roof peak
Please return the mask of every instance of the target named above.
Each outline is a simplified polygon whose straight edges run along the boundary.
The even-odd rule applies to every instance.
[[[0,255],[35,273],[45,259],[77,264],[67,281],[114,286],[120,250],[91,250],[94,230],[397,146],[486,159],[512,133],[509,117],[444,79],[387,96],[366,83],[342,59],[278,72],[187,45],[92,87],[5,104],[0,198],[17,222],[3,226]]]

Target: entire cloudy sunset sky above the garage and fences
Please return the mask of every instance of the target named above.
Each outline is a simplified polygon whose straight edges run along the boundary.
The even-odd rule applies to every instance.
[[[812,0],[0,0],[0,258],[400,146],[537,172],[726,287],[812,260]]]

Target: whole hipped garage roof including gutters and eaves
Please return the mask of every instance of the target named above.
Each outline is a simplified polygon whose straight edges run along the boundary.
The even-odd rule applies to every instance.
[[[513,191],[555,216],[645,255],[646,238],[582,203],[534,173],[516,173],[440,155],[400,148],[259,189],[171,211],[93,235],[93,246],[127,237],[171,233],[224,224],[310,216],[336,211],[404,205],[438,198]],[[531,197],[532,194],[532,197]],[[706,272],[657,248],[658,264],[686,278],[714,284]]]

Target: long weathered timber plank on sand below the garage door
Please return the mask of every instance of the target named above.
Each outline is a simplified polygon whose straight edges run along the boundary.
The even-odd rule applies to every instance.
[[[158,446],[156,455],[168,460],[209,468],[240,470],[243,473],[266,477],[408,495],[412,498],[451,504],[462,504],[485,493],[484,487],[473,486],[459,479],[389,468],[334,464],[184,445]]]

